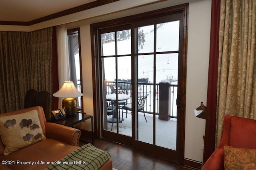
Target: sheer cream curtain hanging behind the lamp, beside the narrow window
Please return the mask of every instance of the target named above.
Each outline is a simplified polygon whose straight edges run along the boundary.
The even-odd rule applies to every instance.
[[[59,88],[64,81],[69,80],[69,55],[68,55],[68,32],[67,25],[63,24],[56,27],[57,51],[58,51],[58,75]],[[59,99],[59,109],[62,108],[62,99]]]

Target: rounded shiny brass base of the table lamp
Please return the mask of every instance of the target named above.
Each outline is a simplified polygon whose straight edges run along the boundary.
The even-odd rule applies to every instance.
[[[66,113],[66,117],[74,117],[76,115],[77,99],[74,97],[66,97],[62,100],[62,108]]]

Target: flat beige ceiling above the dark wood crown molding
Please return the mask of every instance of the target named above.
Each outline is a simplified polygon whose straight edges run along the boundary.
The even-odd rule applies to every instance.
[[[30,22],[94,1],[97,0],[0,0],[0,21]]]

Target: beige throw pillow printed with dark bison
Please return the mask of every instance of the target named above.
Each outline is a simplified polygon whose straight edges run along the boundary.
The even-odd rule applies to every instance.
[[[46,139],[36,110],[0,117],[0,134],[4,155]]]

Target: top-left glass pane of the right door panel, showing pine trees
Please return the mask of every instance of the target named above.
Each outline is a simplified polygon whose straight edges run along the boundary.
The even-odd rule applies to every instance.
[[[154,25],[137,28],[138,53],[154,52]]]

